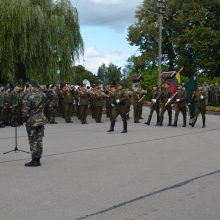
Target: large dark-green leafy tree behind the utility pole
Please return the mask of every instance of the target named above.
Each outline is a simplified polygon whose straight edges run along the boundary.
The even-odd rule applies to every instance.
[[[128,42],[139,47],[134,60],[139,71],[158,61],[158,0],[144,0],[137,8],[136,23],[129,27]],[[163,66],[185,73],[200,71],[219,75],[219,0],[169,0],[163,19]],[[210,39],[210,40],[208,40]]]

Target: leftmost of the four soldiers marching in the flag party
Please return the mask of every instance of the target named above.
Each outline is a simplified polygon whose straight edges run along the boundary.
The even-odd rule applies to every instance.
[[[147,125],[150,125],[154,111],[156,111],[156,114],[157,114],[157,124],[156,125],[159,125],[159,122],[160,122],[159,98],[160,98],[159,97],[159,90],[158,90],[158,87],[156,86],[155,89],[153,89],[152,95],[151,95],[150,114],[148,116],[147,122],[145,122],[145,124],[147,124]]]

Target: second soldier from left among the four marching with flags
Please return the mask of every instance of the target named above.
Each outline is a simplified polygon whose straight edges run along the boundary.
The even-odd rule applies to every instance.
[[[161,113],[160,113],[160,122],[159,122],[160,126],[163,125],[164,113],[166,111],[168,112],[168,116],[169,116],[168,126],[171,126],[172,106],[171,106],[171,103],[169,102],[171,96],[172,96],[171,89],[168,86],[163,88],[162,93],[161,93]]]

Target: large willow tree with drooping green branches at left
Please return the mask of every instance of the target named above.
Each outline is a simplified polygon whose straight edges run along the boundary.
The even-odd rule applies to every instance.
[[[69,0],[0,0],[0,80],[71,78],[83,53],[77,9]]]

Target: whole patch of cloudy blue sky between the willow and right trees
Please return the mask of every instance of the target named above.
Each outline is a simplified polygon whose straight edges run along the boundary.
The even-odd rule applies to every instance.
[[[71,0],[79,14],[84,57],[79,63],[93,74],[103,63],[124,67],[138,48],[127,41],[128,27],[143,0]]]

